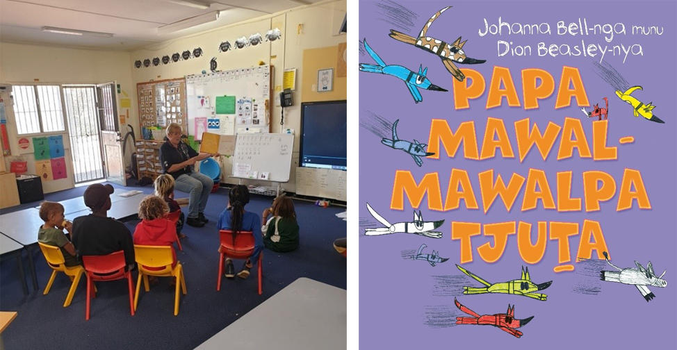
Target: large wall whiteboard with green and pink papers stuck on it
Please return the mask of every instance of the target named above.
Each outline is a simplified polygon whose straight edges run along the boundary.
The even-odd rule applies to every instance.
[[[272,66],[186,76],[188,134],[270,133]]]

